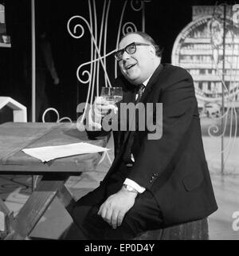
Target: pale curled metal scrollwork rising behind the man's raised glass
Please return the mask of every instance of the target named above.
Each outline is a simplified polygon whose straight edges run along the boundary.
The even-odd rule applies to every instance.
[[[131,9],[134,11],[139,11],[142,10],[142,30],[145,30],[145,14],[144,14],[144,5],[145,2],[150,2],[147,0],[131,0]],[[139,7],[135,7],[135,4],[139,4]],[[123,8],[122,12],[120,14],[120,19],[119,19],[119,27],[118,27],[118,33],[117,33],[117,39],[116,39],[116,49],[113,49],[109,53],[106,52],[107,49],[107,38],[108,38],[108,14],[110,11],[110,6],[111,6],[111,1],[108,0],[108,6],[106,5],[106,0],[104,0],[104,5],[103,5],[103,10],[102,10],[102,17],[101,17],[101,22],[100,22],[100,37],[98,39],[97,37],[97,31],[98,31],[98,26],[97,26],[97,12],[96,12],[96,2],[95,0],[88,0],[88,11],[89,11],[89,22],[86,18],[80,16],[80,15],[75,15],[72,16],[72,18],[69,19],[69,22],[67,23],[67,30],[69,31],[69,34],[76,38],[80,39],[81,37],[84,36],[84,26],[80,24],[80,21],[83,21],[85,25],[88,28],[88,32],[91,35],[91,59],[90,61],[84,62],[83,64],[79,65],[79,67],[76,70],[76,77],[77,80],[80,81],[82,84],[88,84],[88,94],[87,94],[87,99],[85,102],[85,107],[87,106],[88,102],[90,101],[90,104],[92,104],[93,100],[93,94],[94,94],[94,86],[96,85],[96,94],[97,96],[99,95],[99,77],[100,77],[100,65],[102,69],[104,70],[104,81],[105,81],[105,86],[112,87],[111,81],[108,77],[108,72],[106,68],[106,57],[114,53],[117,49],[117,45],[119,44],[119,36],[120,33],[122,33],[122,28],[123,30],[131,30],[130,26],[132,26],[133,30],[137,30],[136,26],[132,22],[126,22],[123,26],[123,17],[125,13],[125,9],[127,6],[127,1],[123,2]],[[77,23],[75,26],[73,26],[73,30],[71,30],[71,24],[72,21],[75,19],[79,20],[79,23]],[[80,32],[80,33],[79,33]],[[103,38],[104,37],[104,38]],[[103,46],[102,46],[103,45]],[[101,50],[103,48],[103,54],[101,54]],[[85,66],[90,65],[90,70],[88,71],[87,69],[84,69],[83,71],[82,68]],[[80,73],[81,72],[81,73]],[[81,75],[81,77],[80,77]],[[115,77],[117,76],[117,62],[115,61]],[[84,77],[84,79],[82,78]],[[84,108],[84,113],[81,117],[80,122],[82,123],[84,120],[86,108]]]

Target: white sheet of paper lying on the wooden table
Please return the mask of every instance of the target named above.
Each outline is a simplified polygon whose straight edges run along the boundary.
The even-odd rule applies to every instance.
[[[95,146],[93,144],[88,144],[85,142],[66,144],[61,146],[49,146],[41,148],[24,148],[22,152],[25,152],[29,156],[33,156],[42,162],[48,162],[57,158],[65,156],[76,156],[80,154],[105,152],[109,148],[102,148]]]

